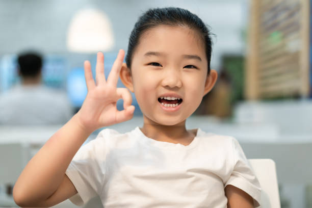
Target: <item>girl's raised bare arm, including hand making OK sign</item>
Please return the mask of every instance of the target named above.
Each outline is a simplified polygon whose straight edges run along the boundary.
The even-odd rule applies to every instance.
[[[129,120],[133,116],[132,97],[125,88],[116,88],[124,58],[120,50],[110,75],[104,75],[104,57],[97,54],[96,82],[91,65],[86,61],[85,77],[88,94],[77,112],[35,154],[18,177],[13,197],[20,206],[52,206],[77,193],[65,171],[75,153],[97,128]],[[116,102],[124,100],[124,110]]]

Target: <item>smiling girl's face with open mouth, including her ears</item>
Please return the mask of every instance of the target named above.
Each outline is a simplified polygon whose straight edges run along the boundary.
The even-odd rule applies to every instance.
[[[203,40],[184,27],[159,26],[140,38],[132,60],[128,81],[144,119],[161,125],[184,122],[199,106],[217,79],[207,76]]]

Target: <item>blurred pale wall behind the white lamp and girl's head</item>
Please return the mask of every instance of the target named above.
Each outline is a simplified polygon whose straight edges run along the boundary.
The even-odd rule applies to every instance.
[[[66,31],[73,14],[97,8],[111,19],[116,44],[127,48],[129,34],[139,15],[152,7],[189,9],[211,25],[214,38],[212,66],[223,53],[244,53],[242,30],[247,22],[246,0],[143,1],[143,0],[0,0],[0,56],[38,48],[47,54],[66,54]]]

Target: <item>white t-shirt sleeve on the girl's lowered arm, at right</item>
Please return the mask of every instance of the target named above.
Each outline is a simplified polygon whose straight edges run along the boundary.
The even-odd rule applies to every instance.
[[[232,138],[232,152],[233,170],[224,184],[224,187],[232,185],[245,191],[253,198],[254,205],[257,207],[261,202],[261,187],[251,169],[242,147],[235,138]]]

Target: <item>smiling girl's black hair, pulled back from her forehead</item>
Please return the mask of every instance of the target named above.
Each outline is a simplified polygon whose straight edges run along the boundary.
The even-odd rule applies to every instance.
[[[207,74],[210,73],[212,53],[210,30],[197,15],[186,9],[174,7],[149,9],[139,17],[129,37],[128,50],[125,58],[128,68],[131,68],[133,53],[144,32],[160,25],[168,25],[171,27],[182,26],[196,30],[203,38],[208,63]]]

